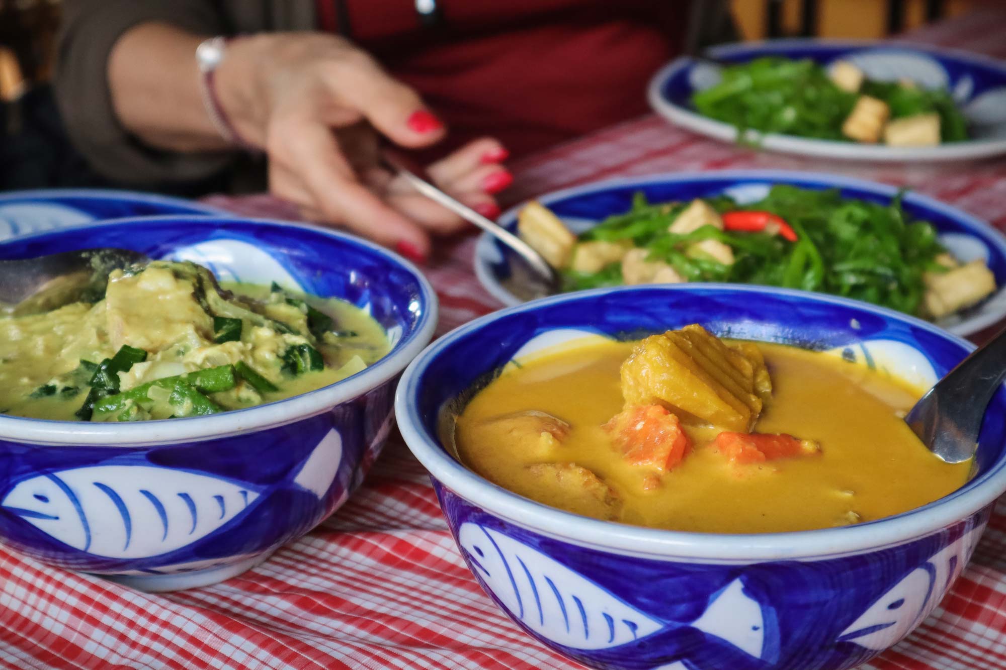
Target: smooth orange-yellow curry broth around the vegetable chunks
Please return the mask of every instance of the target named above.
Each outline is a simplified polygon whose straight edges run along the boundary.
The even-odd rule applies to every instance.
[[[693,450],[654,485],[652,471],[626,463],[602,429],[623,408],[619,370],[635,343],[570,346],[510,366],[458,417],[461,461],[500,486],[561,505],[540,480],[538,463],[575,463],[618,497],[615,520],[685,531],[759,533],[807,530],[897,514],[960,488],[971,464],[949,465],[923,447],[896,411],[919,393],[840,358],[759,343],[774,382],[760,433],[820,442],[819,455],[731,466],[707,445],[716,429],[685,427]],[[538,410],[571,426],[550,450],[514,444],[487,420]],[[611,517],[610,517],[611,518]]]

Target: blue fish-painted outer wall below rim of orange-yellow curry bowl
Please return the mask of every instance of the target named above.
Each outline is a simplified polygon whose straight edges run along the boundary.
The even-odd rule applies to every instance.
[[[986,510],[868,556],[699,565],[561,542],[501,524],[436,487],[465,561],[493,601],[534,637],[595,668],[856,667],[933,612],[988,520]],[[778,583],[813,590],[781,598]],[[801,621],[800,611],[815,607],[835,613],[827,626]]]

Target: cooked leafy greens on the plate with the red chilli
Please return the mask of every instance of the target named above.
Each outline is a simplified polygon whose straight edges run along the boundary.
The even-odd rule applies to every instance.
[[[797,231],[797,240],[765,232],[724,230],[713,224],[684,233],[671,232],[674,221],[691,205],[651,204],[639,193],[629,212],[610,216],[580,234],[578,241],[631,241],[633,247],[649,252],[646,261],[667,264],[684,281],[819,291],[913,315],[927,314],[924,297],[933,291],[928,286],[940,276],[952,278],[951,265],[957,265],[937,239],[931,223],[905,215],[900,197],[881,205],[843,198],[837,189],[816,191],[777,185],[766,198],[742,206],[725,195],[703,202],[721,215],[732,211],[777,214]],[[697,246],[710,239],[728,246],[733,262],[716,260]],[[583,272],[582,266],[576,270],[577,250],[574,246],[572,264],[562,270],[563,290],[626,283],[622,261],[596,272]],[[972,272],[967,271],[969,276]],[[951,307],[970,306],[991,293],[995,289],[991,273],[988,279],[990,282],[981,284],[979,295],[962,295],[964,302]],[[940,313],[929,316],[938,318],[949,313],[947,308],[936,311]]]

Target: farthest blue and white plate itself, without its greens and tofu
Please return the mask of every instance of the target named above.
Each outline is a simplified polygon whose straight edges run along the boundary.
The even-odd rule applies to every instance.
[[[907,77],[927,88],[949,90],[968,119],[974,139],[937,147],[888,147],[812,140],[792,135],[766,135],[762,148],[818,158],[868,161],[974,160],[1006,154],[1006,63],[963,51],[871,41],[834,42],[818,39],[777,39],[711,48],[710,58],[745,62],[762,56],[812,58],[824,65],[850,60],[869,78],[885,81]],[[681,57],[650,81],[653,109],[700,135],[732,142],[736,128],[702,116],[691,106],[692,94],[719,80],[719,68],[708,61]],[[756,139],[754,133],[748,139]]]

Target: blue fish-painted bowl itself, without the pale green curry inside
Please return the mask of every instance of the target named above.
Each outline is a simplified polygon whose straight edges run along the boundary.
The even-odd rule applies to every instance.
[[[211,416],[90,424],[0,415],[5,544],[145,591],[220,581],[308,532],[359,485],[391,430],[398,376],[433,336],[436,295],[413,266],[379,246],[256,219],[122,219],[20,237],[0,244],[0,259],[98,246],[341,298],[393,343],[342,381]]]

